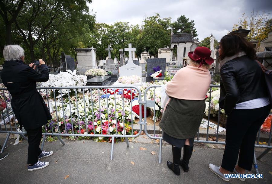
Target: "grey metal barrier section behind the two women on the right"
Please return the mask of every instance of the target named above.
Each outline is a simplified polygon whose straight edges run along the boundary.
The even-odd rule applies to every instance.
[[[160,85],[153,85],[153,86],[149,86],[146,88],[145,92],[144,92],[144,131],[145,131],[145,134],[152,138],[152,139],[159,139],[160,140],[160,154],[161,154],[161,142],[162,142],[162,137],[155,137],[155,123],[156,123],[156,117],[155,117],[155,106],[156,106],[156,103],[155,103],[155,99],[156,99],[156,88],[160,88],[161,86]],[[153,89],[152,89],[153,88]],[[222,142],[222,141],[218,141],[218,135],[219,135],[219,123],[220,123],[220,107],[219,107],[219,110],[218,110],[218,120],[217,120],[217,130],[216,130],[216,139],[215,141],[210,141],[209,140],[209,123],[210,123],[210,112],[211,112],[211,93],[212,93],[212,88],[220,88],[219,85],[210,85],[209,87],[209,115],[208,115],[208,124],[207,124],[207,133],[206,133],[206,140],[199,140],[199,130],[197,132],[197,136],[196,136],[196,140],[195,142],[197,143],[206,143],[206,144],[223,144],[225,145],[226,143],[225,142]],[[148,90],[154,90],[154,93],[153,93],[153,99],[154,100],[148,100],[147,99],[147,92]],[[160,90],[157,89],[157,92],[160,93]],[[139,102],[140,103],[140,102]],[[147,111],[147,107],[150,107],[150,108],[153,108],[154,111],[153,111],[153,119],[154,119],[154,134],[153,136],[149,135],[148,132],[147,132],[147,125],[146,125],[146,111]],[[260,160],[266,153],[269,152],[270,149],[272,149],[272,145],[271,145],[271,132],[272,132],[272,123],[271,123],[271,127],[270,127],[270,134],[269,134],[269,141],[268,141],[268,145],[260,145],[259,144],[259,140],[260,140],[260,130],[259,129],[259,132],[258,132],[258,135],[257,135],[257,144],[255,144],[255,147],[260,147],[260,148],[265,148],[266,150],[264,150],[263,153],[261,153],[257,159],[256,159],[256,155],[254,153],[254,169],[255,169],[255,172],[256,173],[259,173],[258,171],[258,166],[257,166],[257,160]],[[161,155],[159,156],[159,163],[161,161]]]

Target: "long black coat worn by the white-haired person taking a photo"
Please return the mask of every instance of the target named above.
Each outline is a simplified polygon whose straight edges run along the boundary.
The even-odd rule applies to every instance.
[[[50,112],[39,92],[36,82],[46,82],[49,79],[48,67],[40,65],[38,73],[30,66],[17,61],[6,61],[3,64],[1,78],[10,92],[11,106],[15,117],[26,130],[35,129],[52,119]]]

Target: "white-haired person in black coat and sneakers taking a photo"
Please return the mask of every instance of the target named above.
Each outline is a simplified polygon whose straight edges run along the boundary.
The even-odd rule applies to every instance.
[[[52,117],[42,96],[37,92],[36,82],[48,81],[48,67],[41,59],[40,73],[35,71],[34,63],[25,65],[24,49],[19,45],[5,46],[3,56],[5,63],[1,78],[12,96],[11,106],[20,124],[20,130],[23,126],[28,133],[28,171],[42,169],[48,166],[49,162],[38,160],[53,154],[53,151],[40,150],[42,126]]]

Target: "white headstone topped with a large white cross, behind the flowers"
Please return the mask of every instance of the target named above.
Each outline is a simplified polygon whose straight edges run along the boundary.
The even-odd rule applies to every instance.
[[[124,66],[121,66],[120,76],[132,76],[137,75],[142,78],[142,67],[135,65],[132,60],[132,51],[135,51],[136,48],[132,48],[131,44],[128,44],[128,48],[125,48],[125,51],[128,51],[128,63]]]

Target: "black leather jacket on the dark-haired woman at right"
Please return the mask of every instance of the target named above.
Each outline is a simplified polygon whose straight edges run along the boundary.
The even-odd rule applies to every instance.
[[[247,56],[225,63],[220,76],[219,106],[226,114],[231,113],[237,103],[268,97],[261,66]]]

